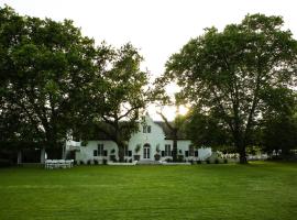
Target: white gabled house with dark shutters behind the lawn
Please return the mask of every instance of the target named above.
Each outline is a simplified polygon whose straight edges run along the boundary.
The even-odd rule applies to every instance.
[[[153,162],[155,155],[160,155],[160,161],[172,160],[173,139],[170,132],[164,122],[154,122],[148,114],[143,117],[145,123],[139,124],[139,131],[132,134],[124,151],[127,162]],[[66,151],[75,150],[75,160],[87,163],[97,161],[102,163],[103,160],[114,161],[118,158],[118,146],[110,140],[90,140],[84,146],[81,142],[68,141]],[[136,151],[139,150],[139,151]],[[178,134],[177,155],[184,161],[204,161],[211,155],[210,147],[195,147],[190,140]],[[158,158],[157,158],[158,160]]]

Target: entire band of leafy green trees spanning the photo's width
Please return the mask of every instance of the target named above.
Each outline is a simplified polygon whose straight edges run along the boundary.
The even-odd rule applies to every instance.
[[[241,163],[248,146],[288,153],[297,146],[297,42],[283,24],[253,14],[221,32],[206,29],[170,56],[151,90],[133,45],[96,46],[69,20],[0,8],[0,144],[61,147],[67,135],[99,131],[122,161],[140,113],[158,102],[189,106],[172,131],[184,129],[196,145],[231,146]],[[172,82],[180,87],[175,98],[166,94]]]

